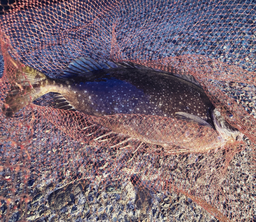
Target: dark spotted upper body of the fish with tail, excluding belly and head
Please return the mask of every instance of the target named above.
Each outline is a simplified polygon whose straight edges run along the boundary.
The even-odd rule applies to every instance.
[[[13,116],[20,108],[53,92],[57,93],[56,108],[77,110],[90,116],[120,113],[174,118],[187,113],[188,119],[200,117],[213,125],[209,115],[212,103],[202,88],[168,72],[132,62],[98,63],[80,57],[72,61],[58,79],[51,79],[9,59],[16,74],[15,87],[6,97],[7,107],[2,108],[6,116]],[[19,71],[18,66],[23,66],[23,70]],[[23,87],[22,92],[17,85]]]

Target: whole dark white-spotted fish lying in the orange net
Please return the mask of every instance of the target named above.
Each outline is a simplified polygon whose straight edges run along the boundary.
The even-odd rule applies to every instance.
[[[89,57],[79,57],[70,62],[59,78],[50,78],[10,55],[6,56],[10,63],[6,74],[12,84],[2,106],[6,117],[13,117],[19,109],[52,92],[55,93],[55,108],[99,117],[101,125],[117,133],[159,144],[166,150],[172,144],[178,144],[180,150],[191,151],[191,144],[195,145],[195,140],[202,141],[202,135],[206,135],[202,132],[208,129],[214,131],[214,140],[205,138],[204,145],[197,151],[223,147],[227,142],[240,141],[243,137],[242,132],[221,118],[221,113],[191,75],[129,61],[99,63]],[[144,117],[145,122],[139,121],[143,129],[132,124],[138,120],[138,115]],[[161,121],[155,119],[153,123],[158,128],[147,126],[145,123],[152,116],[164,118],[165,122],[172,121],[163,127]],[[125,117],[130,118],[131,124],[126,124]],[[117,121],[109,124],[113,118]],[[178,133],[177,128],[173,130],[175,123],[186,126],[178,127],[181,139],[177,142],[174,142]],[[181,134],[181,130],[185,131]]]

